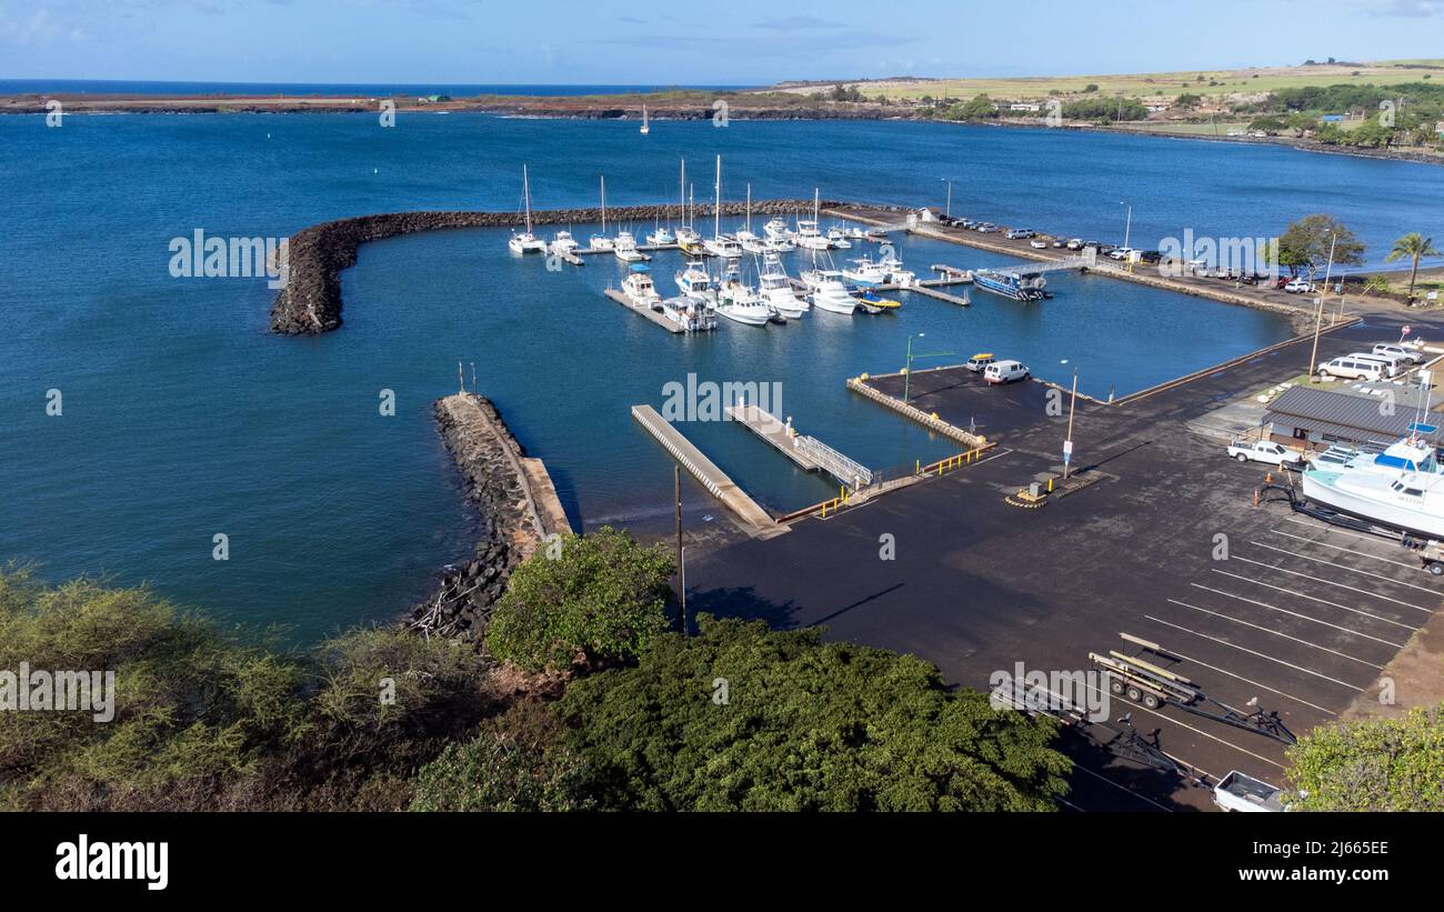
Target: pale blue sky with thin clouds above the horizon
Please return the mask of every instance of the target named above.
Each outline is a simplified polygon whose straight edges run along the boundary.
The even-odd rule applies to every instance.
[[[1444,55],[1444,0],[0,0],[0,78],[765,84]]]

